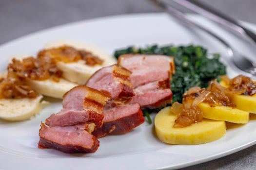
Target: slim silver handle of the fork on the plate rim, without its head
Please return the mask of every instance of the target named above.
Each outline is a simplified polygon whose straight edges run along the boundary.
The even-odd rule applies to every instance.
[[[234,50],[228,44],[228,42],[226,42],[225,40],[220,38],[217,34],[211,32],[210,30],[208,30],[208,29],[206,29],[204,27],[202,27],[201,25],[197,24],[196,22],[187,19],[185,14],[183,14],[182,12],[178,11],[177,9],[171,7],[169,4],[167,4],[166,2],[164,2],[162,0],[151,0],[151,1],[155,2],[159,7],[164,9],[167,13],[171,14],[174,17],[177,17],[178,19],[180,19],[184,23],[189,24],[191,26],[194,26],[194,27],[196,27],[196,28],[198,28],[198,29],[200,29],[200,30],[202,30],[202,31],[212,35],[217,40],[219,40],[223,45],[226,46],[229,56],[233,56],[234,55]]]

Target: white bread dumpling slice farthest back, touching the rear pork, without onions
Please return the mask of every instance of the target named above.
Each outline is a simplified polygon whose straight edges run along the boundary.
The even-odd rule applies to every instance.
[[[73,83],[84,85],[86,81],[91,77],[91,75],[96,72],[98,69],[110,66],[116,63],[116,59],[107,53],[101,51],[97,47],[83,44],[73,41],[57,41],[49,43],[45,46],[45,49],[59,48],[62,46],[70,46],[78,50],[84,50],[91,52],[93,55],[97,56],[102,60],[100,65],[96,64],[93,66],[87,65],[84,60],[79,60],[77,62],[64,63],[59,61],[57,63],[57,68],[63,71],[63,77]]]

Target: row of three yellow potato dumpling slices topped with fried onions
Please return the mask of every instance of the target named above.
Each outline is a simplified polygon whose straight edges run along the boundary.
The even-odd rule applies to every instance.
[[[238,78],[240,82],[237,81]],[[209,102],[209,99],[213,97],[209,95],[210,92],[207,93],[207,90],[210,90],[213,94],[216,92],[216,90],[210,87],[212,84],[210,84],[207,90],[197,87],[201,92],[204,91],[205,96],[209,95],[208,99],[204,98],[199,102],[199,92],[191,93],[191,91],[195,91],[197,88],[193,87],[194,89],[188,90],[187,93],[196,96],[193,97],[194,101],[190,100],[191,98],[187,98],[188,95],[185,94],[183,96],[183,104],[174,103],[172,107],[166,107],[157,114],[155,118],[155,129],[158,138],[168,144],[202,144],[225,136],[225,122],[238,124],[248,123],[250,113],[256,114],[256,84],[251,79],[250,82],[244,83],[244,79],[249,80],[250,78],[237,76],[228,81],[227,78],[223,78],[219,83],[215,80],[217,88],[221,89],[222,92],[228,96],[226,100],[223,99],[225,102],[218,100],[217,102],[219,103]],[[233,83],[236,81],[235,83],[239,82],[240,84],[234,85],[232,81]],[[221,92],[219,92],[219,94],[221,94]],[[218,99],[220,99],[219,96]],[[202,118],[198,121],[197,115],[197,119],[195,118],[195,121],[193,120],[193,123],[189,125],[178,124],[180,120],[186,120],[185,122],[187,123],[193,118],[193,115],[188,113],[190,110],[184,110],[184,108],[191,109],[191,105],[193,105],[193,102],[195,104],[195,101],[197,102],[196,108],[198,111],[198,113],[197,111],[195,113],[201,113]],[[189,106],[187,106],[188,104]],[[185,111],[187,113],[183,113],[183,115],[181,113],[175,113],[175,111],[180,108],[173,107],[184,107],[183,112]]]

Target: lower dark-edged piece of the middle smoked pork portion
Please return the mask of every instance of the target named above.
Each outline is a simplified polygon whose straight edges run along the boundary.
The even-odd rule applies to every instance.
[[[130,132],[144,122],[143,113],[138,103],[108,106],[103,110],[103,125],[93,131],[96,137],[119,135]]]

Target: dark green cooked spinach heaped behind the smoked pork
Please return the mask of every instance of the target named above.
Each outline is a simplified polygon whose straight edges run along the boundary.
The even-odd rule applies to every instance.
[[[174,56],[176,72],[171,80],[173,102],[182,102],[182,95],[193,86],[207,87],[210,80],[226,74],[226,67],[219,61],[220,55],[209,54],[201,46],[165,46],[146,48],[128,47],[115,51],[115,57],[122,54],[162,54]],[[147,110],[148,111],[148,110]]]

